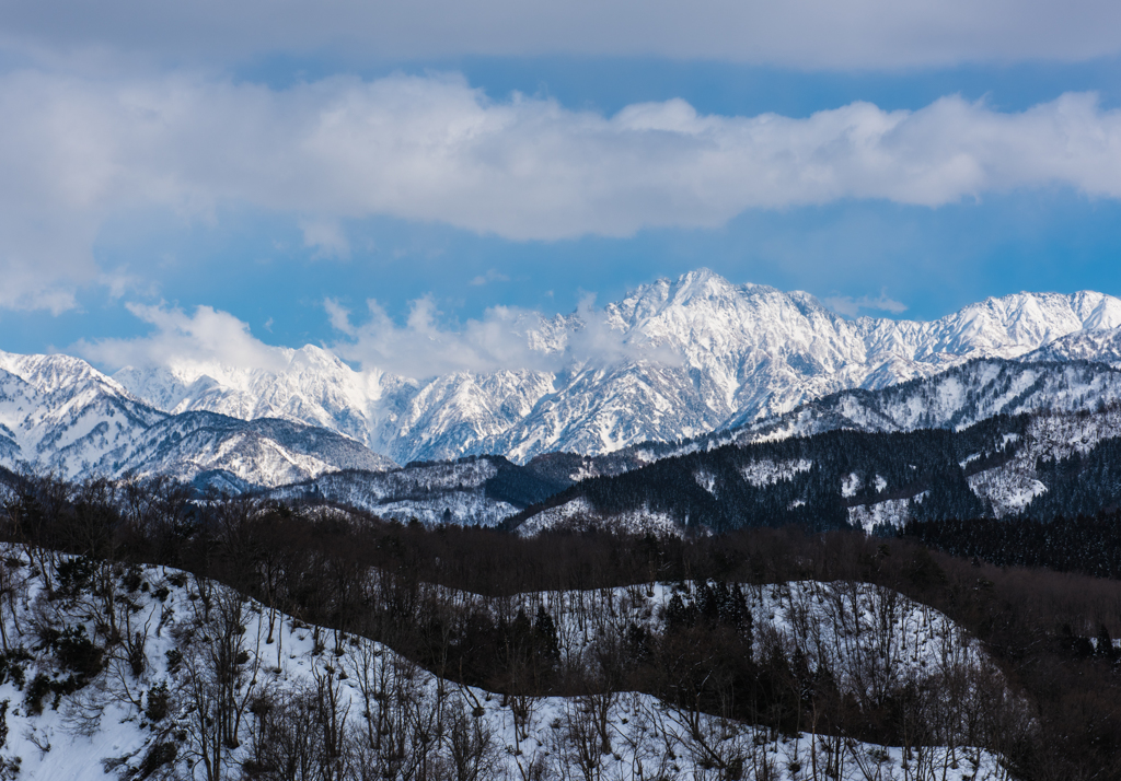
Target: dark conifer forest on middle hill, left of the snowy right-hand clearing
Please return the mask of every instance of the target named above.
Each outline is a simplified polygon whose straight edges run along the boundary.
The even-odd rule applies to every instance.
[[[924,429],[868,434],[830,431],[775,443],[726,445],[675,456],[615,476],[594,477],[530,508],[509,521],[516,527],[541,508],[577,496],[604,514],[648,510],[667,513],[682,526],[729,531],[788,523],[812,529],[843,529],[847,509],[886,499],[911,499],[920,518],[975,518],[988,508],[970,490],[966,477],[1011,457],[1016,444],[1006,435],[1020,434],[1025,417],[995,417],[964,431]],[[961,464],[966,459],[963,467]],[[808,468],[767,484],[752,484],[744,471],[758,462],[808,462]],[[850,474],[862,486],[851,496],[841,486]],[[710,485],[702,485],[704,475]],[[886,485],[874,487],[874,476]]]

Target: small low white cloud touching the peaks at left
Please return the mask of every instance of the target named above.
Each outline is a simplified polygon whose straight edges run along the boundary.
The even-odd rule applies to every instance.
[[[67,352],[110,371],[122,366],[173,366],[205,372],[214,364],[279,371],[288,364],[291,351],[259,341],[250,333],[249,325],[228,312],[201,306],[188,315],[167,306],[126,306],[154,326],[151,334],[130,340],[83,340]]]

